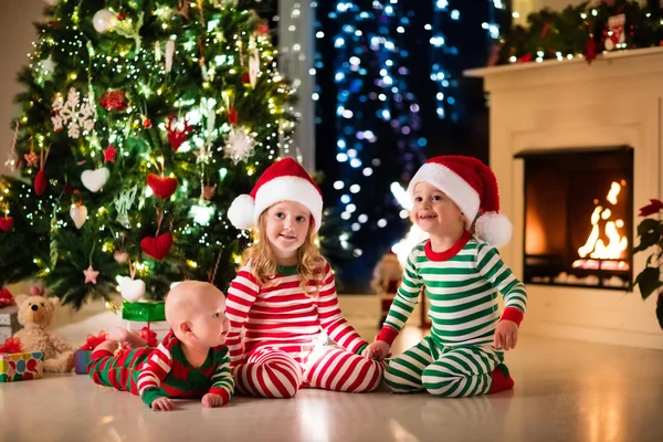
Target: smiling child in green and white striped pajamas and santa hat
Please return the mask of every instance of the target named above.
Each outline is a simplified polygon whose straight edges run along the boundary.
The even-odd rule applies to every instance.
[[[495,246],[512,227],[498,214],[493,171],[475,158],[430,159],[408,187],[413,221],[430,239],[408,257],[402,283],[382,330],[367,349],[381,360],[423,291],[432,322],[430,336],[389,361],[385,381],[394,392],[427,390],[440,397],[469,397],[513,388],[503,364],[515,348],[527,293]],[[476,235],[470,229],[477,213]],[[498,312],[497,292],[505,309]]]

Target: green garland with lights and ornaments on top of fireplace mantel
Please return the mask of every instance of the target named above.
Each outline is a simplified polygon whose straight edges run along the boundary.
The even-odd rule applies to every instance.
[[[619,39],[619,28],[614,28],[620,24],[620,15],[624,19],[623,40]],[[603,51],[663,46],[663,10],[657,0],[648,4],[629,0],[586,1],[560,12],[544,9],[532,13],[527,23],[527,28],[516,25],[503,35],[490,65],[577,56],[591,63]]]

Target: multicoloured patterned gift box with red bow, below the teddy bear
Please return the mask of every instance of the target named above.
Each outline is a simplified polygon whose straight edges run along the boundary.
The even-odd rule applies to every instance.
[[[0,346],[0,382],[39,379],[43,372],[43,351],[23,351],[17,338],[7,339]]]

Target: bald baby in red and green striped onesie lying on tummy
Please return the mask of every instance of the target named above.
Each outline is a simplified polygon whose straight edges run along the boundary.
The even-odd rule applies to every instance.
[[[170,333],[157,348],[117,328],[92,352],[95,383],[140,396],[152,410],[173,409],[171,399],[202,398],[203,407],[221,407],[234,392],[228,348],[225,297],[212,284],[186,281],[166,296]],[[118,345],[130,350],[114,355]]]

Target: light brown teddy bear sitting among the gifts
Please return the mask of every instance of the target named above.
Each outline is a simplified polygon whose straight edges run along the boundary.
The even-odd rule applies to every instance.
[[[74,368],[75,348],[46,332],[60,299],[39,295],[18,295],[19,324],[23,329],[14,336],[21,339],[27,351],[44,352],[44,370],[69,372]]]

